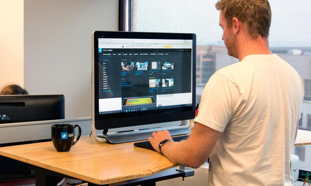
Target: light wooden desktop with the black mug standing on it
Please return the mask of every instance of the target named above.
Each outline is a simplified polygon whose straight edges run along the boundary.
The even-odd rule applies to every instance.
[[[140,178],[177,166],[164,155],[133,143],[109,144],[81,136],[69,152],[57,152],[52,142],[43,142],[1,147],[0,155],[94,184]]]

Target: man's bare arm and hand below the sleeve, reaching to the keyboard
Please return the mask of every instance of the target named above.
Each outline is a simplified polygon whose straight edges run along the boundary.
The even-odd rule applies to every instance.
[[[169,131],[157,131],[152,133],[153,138],[148,140],[158,152],[159,143],[164,139],[171,141],[161,147],[162,153],[171,161],[180,165],[198,168],[209,157],[222,132],[196,122],[191,135],[187,140],[174,142]]]

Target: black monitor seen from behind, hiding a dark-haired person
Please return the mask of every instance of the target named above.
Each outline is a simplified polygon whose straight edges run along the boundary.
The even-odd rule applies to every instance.
[[[64,95],[0,95],[0,123],[65,119]]]

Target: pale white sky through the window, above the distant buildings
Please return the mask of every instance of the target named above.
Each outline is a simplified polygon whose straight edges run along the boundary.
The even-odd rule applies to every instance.
[[[138,0],[136,31],[196,33],[197,44],[224,45],[215,2]],[[311,47],[311,1],[269,2],[272,9],[270,47]]]

